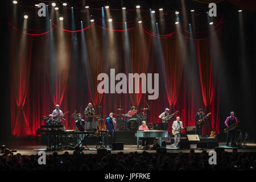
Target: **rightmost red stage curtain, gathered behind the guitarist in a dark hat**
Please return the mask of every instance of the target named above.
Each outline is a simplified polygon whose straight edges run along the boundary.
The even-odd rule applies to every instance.
[[[215,96],[215,85],[213,75],[213,60],[210,53],[209,39],[197,40],[197,63],[199,67],[199,76],[201,83],[201,90],[203,101],[205,105],[205,114],[211,112],[210,123],[206,122],[203,125],[203,135],[209,135],[212,130],[214,121],[217,121],[216,113],[214,110],[214,96]],[[217,123],[217,122],[216,122]],[[208,125],[209,124],[209,125]]]

